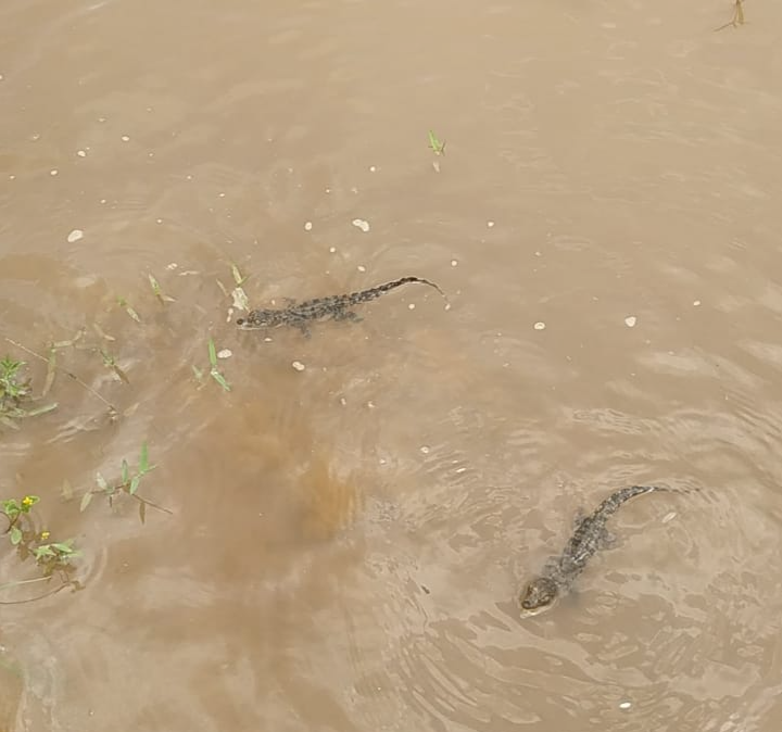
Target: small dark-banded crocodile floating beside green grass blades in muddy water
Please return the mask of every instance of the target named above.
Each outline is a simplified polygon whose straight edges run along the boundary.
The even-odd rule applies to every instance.
[[[248,313],[245,318],[239,318],[237,325],[242,330],[258,330],[260,328],[276,328],[278,326],[293,326],[299,328],[304,336],[310,336],[307,323],[331,318],[333,320],[361,320],[351,310],[353,305],[375,300],[394,288],[407,285],[407,282],[420,282],[433,287],[443,298],[445,293],[434,282],[420,277],[401,277],[384,285],[350,292],[348,294],[336,294],[328,298],[315,298],[305,300],[302,303],[291,301],[287,307],[270,310],[254,310]],[[445,298],[447,301],[447,298]]]

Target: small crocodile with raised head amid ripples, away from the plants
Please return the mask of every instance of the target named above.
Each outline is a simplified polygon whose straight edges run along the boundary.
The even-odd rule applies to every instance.
[[[573,580],[583,571],[592,555],[605,545],[608,532],[605,525],[619,506],[633,496],[651,491],[669,489],[657,485],[631,485],[621,488],[609,495],[593,514],[580,519],[565,551],[551,560],[540,577],[537,577],[521,592],[521,617],[538,615],[552,607],[556,600],[567,592]]]

